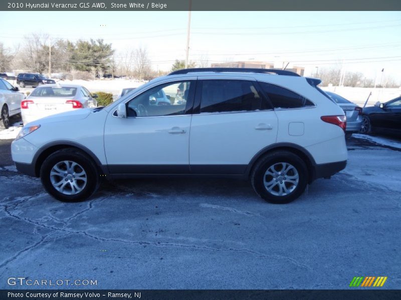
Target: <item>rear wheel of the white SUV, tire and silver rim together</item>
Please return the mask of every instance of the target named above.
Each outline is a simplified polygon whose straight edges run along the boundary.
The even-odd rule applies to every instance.
[[[251,174],[256,193],[268,202],[289,203],[298,198],[308,183],[305,162],[290,151],[274,151],[255,165]]]

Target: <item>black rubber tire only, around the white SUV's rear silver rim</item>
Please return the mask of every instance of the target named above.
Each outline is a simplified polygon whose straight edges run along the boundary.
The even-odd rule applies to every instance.
[[[285,180],[280,182],[280,178],[286,179],[286,177],[277,176],[276,179],[276,177],[274,176],[265,175],[265,172],[269,169],[269,167],[275,165],[276,163],[277,165],[275,167],[275,170],[278,171],[278,174],[280,174],[281,171],[281,163],[289,164],[296,170],[296,172],[298,173],[298,182],[296,185]],[[294,169],[291,169],[291,174],[289,174],[289,176],[296,176],[296,172],[294,171]],[[269,176],[271,177],[271,179],[268,178]],[[272,180],[272,184],[277,182],[273,186],[271,192],[269,192],[265,187],[265,179],[269,181]],[[284,182],[284,185],[289,190],[289,192],[283,195],[274,194],[282,190],[282,188],[280,187],[282,182]],[[308,169],[305,162],[298,155],[290,151],[278,150],[265,155],[257,161],[251,172],[251,183],[256,193],[266,201],[274,204],[289,203],[298,198],[305,190],[306,184],[308,183]],[[279,190],[276,191],[275,189]]]

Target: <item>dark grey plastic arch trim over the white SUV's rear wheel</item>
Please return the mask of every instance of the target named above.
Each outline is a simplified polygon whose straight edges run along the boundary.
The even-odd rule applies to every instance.
[[[267,155],[273,151],[277,151],[277,150],[290,151],[290,152],[298,155],[299,157],[301,157],[305,161],[306,167],[308,169],[308,183],[313,181],[313,179],[315,178],[315,172],[316,172],[315,171],[315,166],[316,166],[315,159],[313,158],[312,154],[309,153],[309,151],[307,149],[305,149],[304,147],[299,146],[297,144],[290,143],[290,142],[276,143],[276,144],[267,146],[267,147],[263,148],[262,150],[260,150],[258,153],[256,153],[255,156],[251,159],[250,163],[248,164],[248,167],[245,172],[245,176],[247,178],[249,178],[249,176],[251,175],[252,170],[255,167],[255,165],[257,164],[257,162],[265,155]]]

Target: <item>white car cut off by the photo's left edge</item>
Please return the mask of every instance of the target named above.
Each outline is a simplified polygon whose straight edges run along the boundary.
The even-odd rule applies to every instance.
[[[21,101],[25,95],[10,82],[0,78],[0,129],[10,126],[10,116],[21,112]]]

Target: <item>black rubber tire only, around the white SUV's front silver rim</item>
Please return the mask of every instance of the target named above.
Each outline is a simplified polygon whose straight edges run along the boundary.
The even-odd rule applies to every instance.
[[[82,182],[79,182],[81,185],[83,185],[82,190],[74,193],[74,194],[66,194],[65,192],[68,192],[68,186],[65,190],[65,192],[61,192],[59,190],[56,189],[56,187],[53,185],[52,180],[56,179],[60,179],[59,182],[63,181],[63,177],[62,176],[58,176],[56,175],[53,176],[51,178],[50,172],[52,170],[52,168],[58,164],[58,163],[62,163],[63,161],[73,161],[75,163],[78,164],[79,169],[83,169],[86,173],[86,184],[82,184]],[[66,171],[67,173],[67,171]],[[74,174],[74,173],[72,173]],[[66,174],[64,174],[64,176],[66,176]],[[58,150],[54,153],[52,153],[51,155],[49,155],[49,157],[47,157],[45,159],[45,161],[43,162],[42,166],[41,166],[41,170],[40,170],[40,177],[42,180],[42,184],[45,187],[45,189],[47,190],[47,192],[49,194],[51,194],[53,197],[55,197],[57,200],[63,201],[63,202],[78,202],[78,201],[83,201],[88,199],[99,187],[99,172],[98,169],[95,165],[95,163],[93,162],[93,160],[84,152],[76,149],[76,148],[65,148],[65,149],[61,149]],[[75,177],[74,177],[75,178]],[[70,178],[71,180],[74,180],[73,178]],[[56,180],[57,181],[57,180]],[[69,184],[69,180],[66,180],[67,183]],[[71,181],[73,182],[73,181]],[[77,181],[78,182],[78,181]],[[64,183],[64,181],[63,181]],[[67,183],[65,183],[65,185],[67,185]],[[75,183],[75,180],[74,180]],[[70,185],[70,189],[71,189],[71,185]]]

